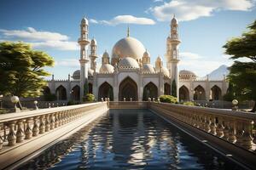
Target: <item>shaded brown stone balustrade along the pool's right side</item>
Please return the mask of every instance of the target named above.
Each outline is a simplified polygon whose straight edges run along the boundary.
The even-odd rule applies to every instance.
[[[256,151],[256,114],[150,102],[149,108],[238,147]]]

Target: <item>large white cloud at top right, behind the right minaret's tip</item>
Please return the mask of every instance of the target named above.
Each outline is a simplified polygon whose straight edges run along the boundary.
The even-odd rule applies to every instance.
[[[157,20],[169,21],[172,14],[178,20],[195,20],[203,16],[211,16],[218,10],[240,10],[247,11],[253,8],[254,0],[172,0],[153,8],[148,8]]]

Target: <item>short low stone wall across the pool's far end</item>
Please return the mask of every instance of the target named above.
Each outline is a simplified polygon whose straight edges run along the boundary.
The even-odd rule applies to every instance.
[[[110,101],[110,109],[148,109],[147,101]]]

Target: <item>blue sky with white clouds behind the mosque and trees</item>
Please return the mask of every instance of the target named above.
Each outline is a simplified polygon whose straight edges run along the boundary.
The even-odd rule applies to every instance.
[[[182,41],[179,69],[201,77],[232,63],[222,46],[256,20],[255,0],[1,0],[0,41],[30,42],[46,51],[55,59],[55,67],[48,71],[64,79],[79,69],[77,39],[84,15],[99,55],[105,49],[111,54],[129,25],[131,37],[143,42],[154,64],[158,55],[165,60],[172,14],[179,20]]]

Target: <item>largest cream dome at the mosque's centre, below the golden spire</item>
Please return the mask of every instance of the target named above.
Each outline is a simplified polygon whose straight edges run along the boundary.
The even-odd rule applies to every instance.
[[[125,37],[114,44],[112,59],[122,59],[125,57],[141,59],[145,51],[142,42],[134,37]]]

